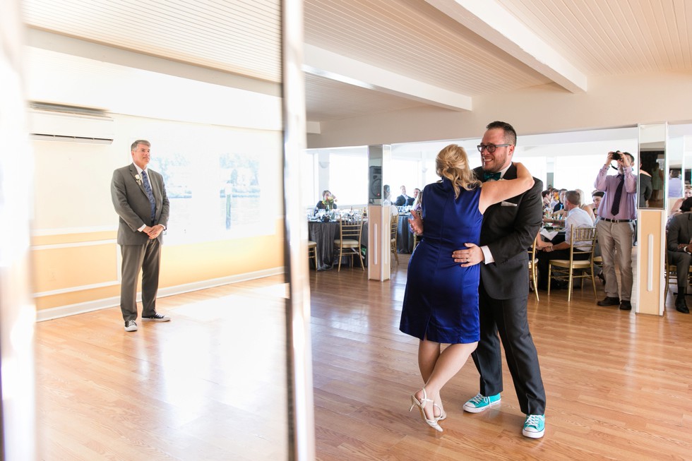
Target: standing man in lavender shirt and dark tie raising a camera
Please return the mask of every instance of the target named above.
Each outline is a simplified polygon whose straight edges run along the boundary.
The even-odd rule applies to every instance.
[[[612,162],[617,162],[617,167],[612,166]],[[633,164],[634,157],[629,152],[608,152],[594,183],[597,190],[604,191],[596,228],[603,257],[606,297],[597,304],[619,304],[623,311],[632,310],[632,241],[637,200],[637,176],[632,171]],[[617,175],[608,174],[611,167],[618,170]],[[619,291],[615,277],[616,252],[620,266]]]

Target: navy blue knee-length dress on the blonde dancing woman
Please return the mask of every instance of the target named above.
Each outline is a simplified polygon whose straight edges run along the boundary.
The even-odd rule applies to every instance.
[[[479,340],[478,264],[462,268],[452,252],[479,244],[480,188],[454,197],[448,179],[423,189],[423,238],[408,265],[399,330],[449,344]]]

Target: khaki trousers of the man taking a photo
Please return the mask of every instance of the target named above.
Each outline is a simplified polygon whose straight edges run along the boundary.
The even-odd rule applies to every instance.
[[[603,258],[603,275],[606,277],[606,296],[621,301],[632,299],[632,222],[609,222],[598,220],[596,224],[598,244]],[[620,290],[615,276],[615,253],[620,266]]]

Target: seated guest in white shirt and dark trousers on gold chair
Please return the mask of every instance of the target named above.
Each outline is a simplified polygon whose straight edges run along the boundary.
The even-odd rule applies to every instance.
[[[567,191],[565,194],[565,241],[560,244],[551,244],[544,241],[536,242],[538,258],[538,289],[548,289],[548,262],[552,259],[569,259],[569,248],[574,246],[575,259],[588,259],[590,253],[580,255],[580,251],[589,251],[591,243],[583,241],[571,241],[572,227],[593,227],[593,220],[587,212],[579,208],[579,193]],[[580,245],[581,244],[581,245]]]

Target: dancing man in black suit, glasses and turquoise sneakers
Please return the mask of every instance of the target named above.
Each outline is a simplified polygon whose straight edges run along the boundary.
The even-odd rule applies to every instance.
[[[503,121],[487,126],[481,144],[483,166],[474,170],[482,181],[515,179],[512,156],[517,135]],[[526,314],[529,294],[528,253],[542,224],[543,183],[534,178],[527,192],[491,205],[483,215],[480,246],[452,253],[463,267],[481,264],[479,285],[480,341],[473,361],[480,373],[480,392],[465,403],[478,413],[500,402],[500,339],[521,411],[527,415],[523,435],[540,438],[545,431],[545,390]],[[468,246],[468,245],[467,245]],[[498,333],[500,338],[498,338]]]

